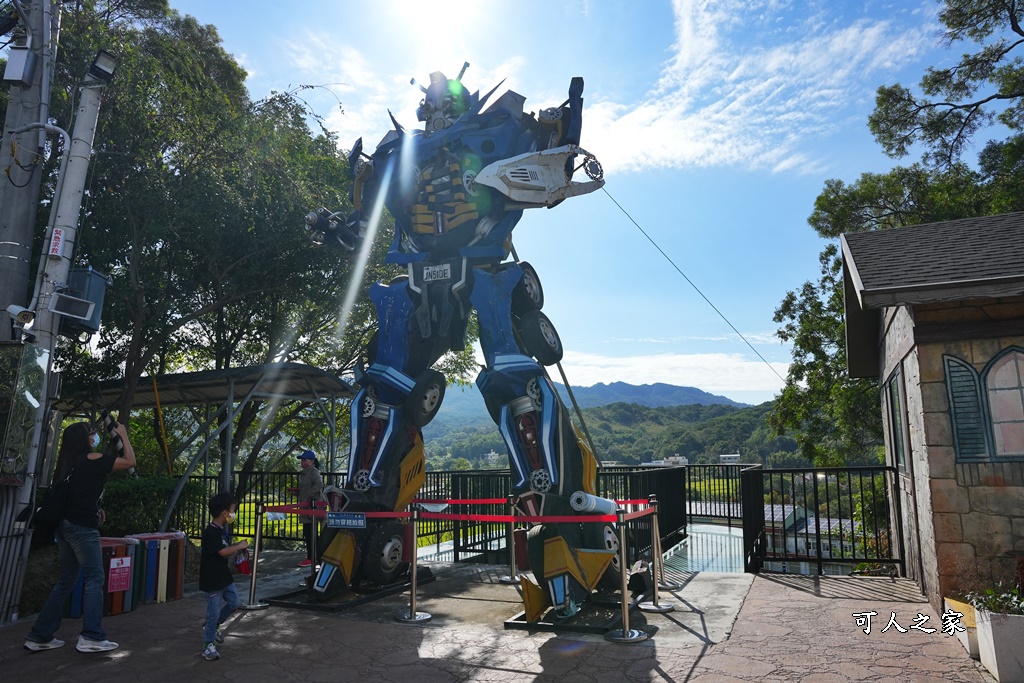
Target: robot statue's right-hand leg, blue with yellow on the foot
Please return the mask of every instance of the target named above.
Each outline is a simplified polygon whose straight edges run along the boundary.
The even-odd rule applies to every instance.
[[[539,310],[537,273],[518,264],[478,270],[471,301],[486,360],[476,384],[509,452],[517,508],[525,515],[557,517],[613,509],[613,502],[597,497],[597,461],[541,365],[557,362],[561,344]],[[536,586],[524,586],[529,621],[549,606],[558,616],[574,614],[617,550],[608,542],[613,524],[544,523],[527,538],[537,580]]]

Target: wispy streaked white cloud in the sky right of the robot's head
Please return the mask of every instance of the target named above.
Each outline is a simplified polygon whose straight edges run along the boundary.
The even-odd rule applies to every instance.
[[[758,28],[787,4],[677,0],[675,55],[658,83],[643,102],[590,104],[586,146],[610,173],[819,171],[808,143],[834,133],[851,105],[866,116],[877,86],[933,39],[928,26],[891,19],[837,27],[808,18],[781,34]]]

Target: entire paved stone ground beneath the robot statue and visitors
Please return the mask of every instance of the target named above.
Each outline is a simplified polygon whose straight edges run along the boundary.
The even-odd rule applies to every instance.
[[[266,572],[257,598],[298,588],[297,558],[261,557]],[[903,628],[919,613],[927,627],[938,616],[906,581],[696,573],[674,577],[685,586],[663,594],[677,610],[633,612],[631,627],[653,636],[616,644],[600,635],[505,630],[519,608],[514,588],[497,582],[501,567],[438,565],[437,581],[422,587],[419,610],[433,618],[397,624],[408,593],[330,613],[286,607],[239,612],[226,627],[221,659],[200,655],[205,602],[142,605],[104,618],[112,653],[74,649],[79,622],[69,620],[63,648],[22,649],[30,620],[0,628],[0,672],[5,681],[965,681],[992,679],[959,643],[941,632],[882,633],[891,612]],[[673,578],[673,577],[670,577]],[[248,584],[240,584],[243,601]],[[853,614],[877,611],[870,634]]]

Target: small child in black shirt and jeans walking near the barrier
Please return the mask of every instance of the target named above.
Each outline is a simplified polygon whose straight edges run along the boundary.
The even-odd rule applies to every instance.
[[[249,547],[248,541],[231,544],[225,528],[234,521],[234,499],[222,492],[210,499],[213,518],[203,530],[199,562],[199,590],[206,593],[206,627],[203,630],[203,656],[219,659],[217,643],[224,642],[217,627],[239,606],[239,592],[227,567],[227,558]],[[223,603],[223,604],[221,604]]]

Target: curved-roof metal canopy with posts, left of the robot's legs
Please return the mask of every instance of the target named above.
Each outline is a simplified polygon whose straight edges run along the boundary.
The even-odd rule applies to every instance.
[[[54,410],[65,414],[98,413],[115,404],[120,399],[123,389],[124,382],[106,380],[88,393],[83,392],[55,401]],[[354,395],[355,389],[344,379],[319,368],[298,362],[271,362],[246,368],[140,378],[132,400],[133,411],[155,409],[158,404],[161,408],[216,407],[212,415],[210,411],[207,412],[210,417],[206,421],[197,419],[196,431],[186,436],[181,446],[171,455],[172,460],[177,459],[201,436],[206,436],[178,480],[178,485],[168,502],[160,530],[166,530],[171,511],[201,460],[205,463],[204,471],[206,471],[210,446],[216,443],[220,433],[225,429],[228,430],[228,443],[221,462],[221,486],[224,490],[230,489],[231,473],[234,470],[230,426],[234,423],[234,416],[249,401],[300,400],[317,405],[322,415],[317,424],[326,423],[329,427],[328,467],[330,471],[334,471],[337,455],[337,402],[339,398],[351,398]],[[315,425],[312,428],[315,428]]]

